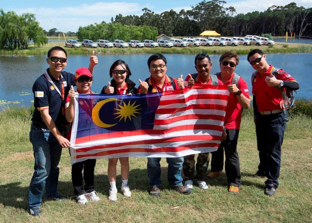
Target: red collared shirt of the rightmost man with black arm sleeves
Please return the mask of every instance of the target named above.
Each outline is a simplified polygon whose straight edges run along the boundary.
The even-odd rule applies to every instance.
[[[280,102],[283,101],[280,90],[276,87],[270,87],[266,83],[267,78],[270,78],[272,70],[273,66],[270,65],[269,69],[262,74],[262,77],[260,77],[259,72],[257,72],[256,78],[252,84],[252,95],[256,95],[258,111],[272,111],[280,109]],[[278,72],[284,71],[280,69]],[[296,81],[288,73],[277,74],[277,79],[283,81]]]

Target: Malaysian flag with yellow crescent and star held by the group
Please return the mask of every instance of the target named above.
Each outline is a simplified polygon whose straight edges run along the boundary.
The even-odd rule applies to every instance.
[[[227,87],[216,85],[130,96],[80,94],[75,97],[71,163],[216,151],[228,95]]]

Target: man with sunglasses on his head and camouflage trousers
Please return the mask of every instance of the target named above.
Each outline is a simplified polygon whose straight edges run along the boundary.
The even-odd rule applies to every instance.
[[[180,89],[184,87],[190,87],[194,84],[210,84],[210,85],[223,85],[222,81],[217,79],[217,76],[210,75],[212,63],[207,53],[199,53],[195,57],[195,69],[198,73],[188,74],[183,82],[183,75],[178,78],[178,86]],[[223,137],[222,137],[223,139]],[[196,184],[204,190],[208,189],[206,183],[206,172],[209,164],[209,152],[199,153],[197,156],[195,176],[195,154],[191,154],[184,157],[183,173],[184,173],[184,186],[187,188],[193,188],[193,180],[196,180]]]

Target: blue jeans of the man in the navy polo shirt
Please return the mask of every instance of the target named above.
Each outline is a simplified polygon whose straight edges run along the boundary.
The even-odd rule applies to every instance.
[[[46,187],[46,197],[53,198],[59,195],[57,184],[62,147],[49,129],[30,126],[29,140],[34,151],[34,174],[28,191],[28,207],[39,207]]]

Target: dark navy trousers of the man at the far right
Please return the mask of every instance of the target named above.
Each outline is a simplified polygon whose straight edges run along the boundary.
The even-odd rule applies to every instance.
[[[285,117],[283,112],[271,115],[257,114],[256,135],[260,159],[258,172],[264,172],[268,178],[265,184],[273,184],[275,188],[279,185],[277,178],[280,176],[284,131]]]

